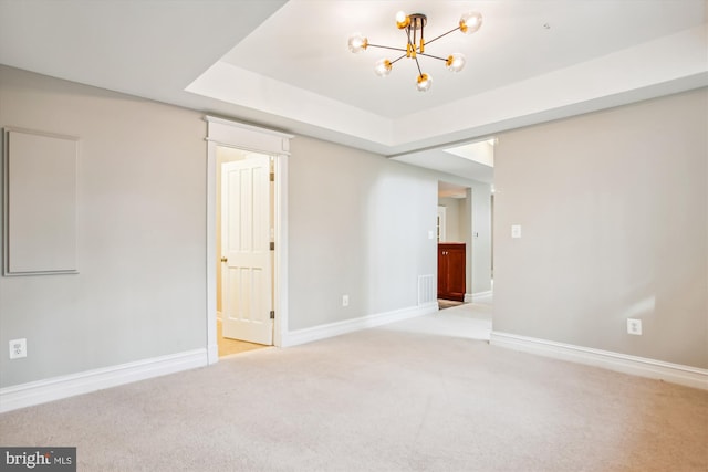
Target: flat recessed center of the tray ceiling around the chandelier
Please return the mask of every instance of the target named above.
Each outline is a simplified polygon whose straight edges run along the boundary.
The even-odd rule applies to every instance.
[[[673,6],[671,6],[673,3]],[[641,1],[321,1],[291,0],[233,48],[223,61],[258,74],[397,118],[461,97],[481,94],[529,77],[603,56],[702,22],[702,2]],[[441,61],[419,57],[433,76],[430,91],[415,87],[413,60],[394,64],[378,77],[378,59],[397,52],[368,48],[358,54],[347,39],[361,32],[371,43],[405,48],[396,28],[400,8],[427,15],[428,40],[457,27],[469,10],[482,14],[481,29],[456,31],[426,49],[433,55],[459,52],[467,65],[459,73]],[[473,113],[473,111],[460,111]]]

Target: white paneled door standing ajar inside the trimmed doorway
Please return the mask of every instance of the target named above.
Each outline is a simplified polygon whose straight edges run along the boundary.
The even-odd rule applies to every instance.
[[[223,337],[273,344],[270,157],[221,167]]]

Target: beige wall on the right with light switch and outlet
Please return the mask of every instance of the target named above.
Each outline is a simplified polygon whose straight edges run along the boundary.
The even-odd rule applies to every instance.
[[[499,136],[494,331],[708,368],[707,96]]]

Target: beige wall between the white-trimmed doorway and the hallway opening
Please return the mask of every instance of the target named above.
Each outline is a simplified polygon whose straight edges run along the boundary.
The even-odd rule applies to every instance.
[[[306,137],[291,153],[289,328],[415,307],[437,271],[438,175]]]

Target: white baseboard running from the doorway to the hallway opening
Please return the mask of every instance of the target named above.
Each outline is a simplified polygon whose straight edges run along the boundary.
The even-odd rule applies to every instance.
[[[438,302],[436,300],[433,303],[426,303],[410,308],[395,310],[393,312],[378,313],[375,315],[362,316],[360,318],[345,319],[343,322],[327,323],[325,325],[313,326],[311,328],[291,331],[284,334],[282,347],[312,343],[313,340],[325,339],[360,329],[415,318],[417,316],[436,313],[437,311]]]

